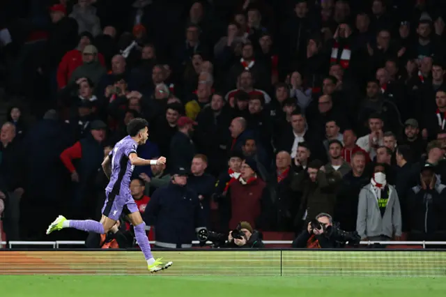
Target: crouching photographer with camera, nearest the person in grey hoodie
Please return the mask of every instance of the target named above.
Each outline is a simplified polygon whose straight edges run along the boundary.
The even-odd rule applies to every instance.
[[[332,216],[319,213],[316,220],[308,223],[306,230],[295,238],[293,248],[342,248],[346,243],[358,245],[360,236],[357,232],[346,232],[333,225]]]

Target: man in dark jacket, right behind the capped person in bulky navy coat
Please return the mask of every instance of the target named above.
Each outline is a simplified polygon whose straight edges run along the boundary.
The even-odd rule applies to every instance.
[[[208,158],[206,155],[194,155],[187,186],[197,192],[203,208],[203,217],[206,227],[210,227],[210,196],[214,192],[215,178],[210,174],[205,173],[208,167]]]

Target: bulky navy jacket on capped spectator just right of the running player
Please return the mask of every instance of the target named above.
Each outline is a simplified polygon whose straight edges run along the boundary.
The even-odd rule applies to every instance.
[[[178,247],[197,240],[196,232],[205,226],[197,192],[173,183],[153,192],[144,221],[155,227],[156,245],[171,243]]]

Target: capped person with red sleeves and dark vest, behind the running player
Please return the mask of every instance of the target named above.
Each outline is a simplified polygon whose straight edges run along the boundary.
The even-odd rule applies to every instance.
[[[71,180],[75,183],[75,195],[72,197],[70,208],[74,217],[91,218],[94,215],[85,213],[84,204],[91,206],[85,209],[95,209],[96,203],[92,201],[94,197],[91,197],[91,188],[94,187],[93,176],[98,172],[104,160],[102,142],[105,139],[106,128],[107,125],[104,122],[93,121],[89,135],[61,153],[63,165],[68,169]],[[79,160],[77,166],[72,163],[73,160]]]

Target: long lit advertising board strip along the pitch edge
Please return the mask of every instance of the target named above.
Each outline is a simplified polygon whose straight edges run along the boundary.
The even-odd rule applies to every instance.
[[[445,277],[441,251],[158,251],[160,275]],[[148,275],[141,252],[1,251],[0,275]]]

